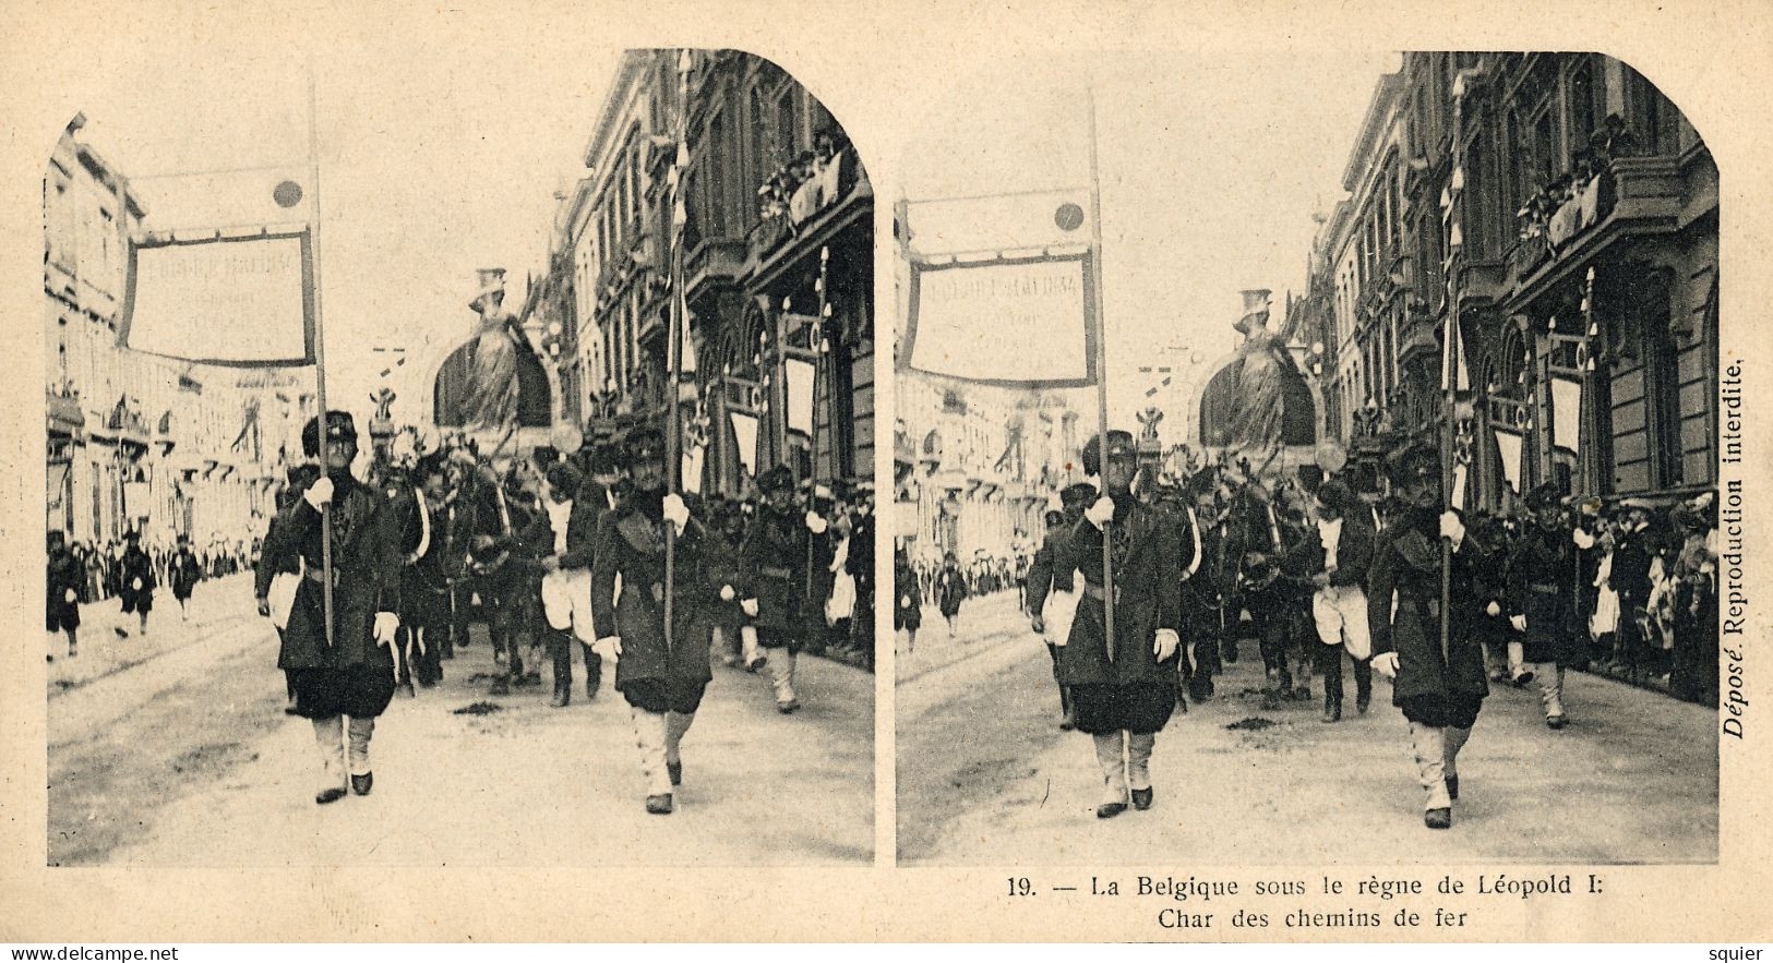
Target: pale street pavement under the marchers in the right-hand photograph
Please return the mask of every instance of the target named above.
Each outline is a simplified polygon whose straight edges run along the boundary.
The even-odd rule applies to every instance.
[[[1044,644],[1011,592],[968,605],[954,642],[940,617],[934,633],[926,619],[924,662],[897,688],[901,864],[1718,858],[1713,709],[1573,672],[1573,722],[1555,732],[1535,690],[1495,688],[1459,756],[1454,826],[1438,832],[1422,826],[1408,724],[1390,686],[1378,679],[1358,716],[1344,670],[1344,720],[1326,725],[1321,679],[1308,702],[1264,704],[1254,640],[1216,697],[1158,736],[1156,805],[1097,819],[1101,775],[1089,738],[1058,731]]]

